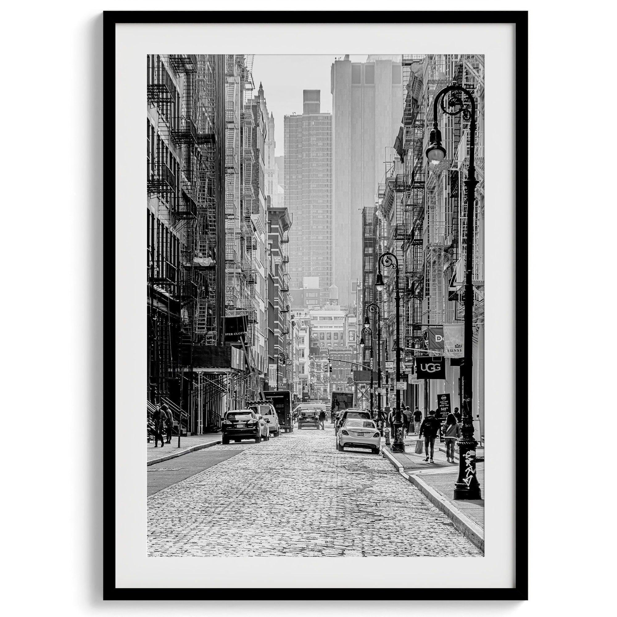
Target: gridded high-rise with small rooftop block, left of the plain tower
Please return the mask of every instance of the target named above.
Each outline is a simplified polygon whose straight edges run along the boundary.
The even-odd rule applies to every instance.
[[[302,115],[284,118],[284,204],[289,233],[291,288],[318,276],[320,302],[333,284],[332,114],[320,112],[320,91],[304,90]]]

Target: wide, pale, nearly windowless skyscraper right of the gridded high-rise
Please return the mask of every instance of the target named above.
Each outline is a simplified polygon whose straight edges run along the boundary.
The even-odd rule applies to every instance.
[[[336,60],[331,69],[334,168],[334,284],[339,304],[355,300],[362,280],[362,209],[375,204],[403,114],[400,56]]]

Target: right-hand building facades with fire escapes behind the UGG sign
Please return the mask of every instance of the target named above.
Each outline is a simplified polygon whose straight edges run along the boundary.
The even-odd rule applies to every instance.
[[[474,420],[484,427],[484,58],[474,55],[403,56],[405,83],[402,127],[386,151],[386,176],[379,184],[375,210],[363,215],[365,286],[374,280],[376,260],[385,251],[399,259],[401,346],[404,348],[404,393],[408,405],[426,411],[437,407],[437,395],[450,394],[452,408],[462,408],[461,358],[445,357],[445,379],[415,379],[415,360],[443,357],[432,346],[433,326],[462,326],[465,263],[465,186],[469,163],[470,122],[462,115],[439,111],[437,122],[446,155],[429,165],[426,146],[433,126],[435,94],[452,82],[465,86],[476,101],[476,201],[474,204]],[[372,214],[372,216],[371,216]],[[373,246],[373,259],[368,259]],[[373,263],[372,273],[370,264]],[[395,277],[384,270],[386,292],[365,289],[363,300],[381,307],[386,349],[395,344]],[[468,341],[465,341],[468,344]],[[433,344],[434,345],[434,344]],[[391,354],[391,359],[394,354]]]

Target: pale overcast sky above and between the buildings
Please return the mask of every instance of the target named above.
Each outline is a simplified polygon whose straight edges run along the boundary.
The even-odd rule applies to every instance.
[[[268,111],[274,114],[276,156],[283,156],[285,115],[302,114],[302,90],[321,90],[321,111],[332,112],[330,67],[343,56],[255,56],[254,94],[263,85]],[[353,62],[365,62],[363,56],[350,56]],[[282,184],[282,182],[281,182]]]

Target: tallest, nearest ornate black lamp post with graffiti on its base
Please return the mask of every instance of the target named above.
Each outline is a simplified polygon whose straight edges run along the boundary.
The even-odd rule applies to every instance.
[[[447,107],[445,105],[445,95],[448,97]],[[463,102],[462,96],[465,95],[470,104],[468,109]],[[476,446],[478,442],[473,437],[473,420],[471,417],[472,401],[472,374],[471,362],[473,351],[473,227],[474,227],[474,199],[476,192],[476,167],[474,157],[476,154],[476,101],[473,94],[463,86],[452,83],[441,89],[433,102],[433,129],[429,137],[429,145],[426,149],[426,158],[431,165],[438,165],[444,160],[445,148],[441,145],[441,131],[437,125],[437,105],[441,107],[445,115],[462,115],[465,120],[470,120],[470,141],[469,141],[469,167],[467,168],[467,179],[463,182],[466,188],[465,205],[467,207],[467,237],[465,241],[465,351],[463,353],[463,428],[461,430],[462,439],[458,441],[458,479],[454,485],[454,499],[480,499],[481,491],[478,478],[476,476]]]

